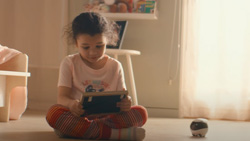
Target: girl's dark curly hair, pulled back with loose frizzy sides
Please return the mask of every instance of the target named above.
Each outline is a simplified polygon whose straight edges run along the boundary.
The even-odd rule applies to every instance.
[[[68,43],[75,43],[80,34],[103,34],[109,45],[116,45],[119,37],[119,27],[114,21],[109,21],[99,13],[84,12],[78,15],[66,29]]]

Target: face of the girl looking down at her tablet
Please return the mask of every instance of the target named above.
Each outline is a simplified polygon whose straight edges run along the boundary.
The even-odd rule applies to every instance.
[[[76,47],[87,65],[102,62],[106,51],[107,38],[102,34],[80,34],[76,38]]]

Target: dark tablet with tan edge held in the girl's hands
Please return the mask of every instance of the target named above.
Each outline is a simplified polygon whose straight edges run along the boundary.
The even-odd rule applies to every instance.
[[[116,106],[128,91],[86,92],[82,94],[81,104],[85,110],[84,115],[111,114],[120,112]]]

